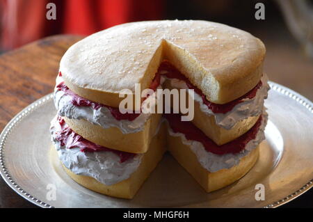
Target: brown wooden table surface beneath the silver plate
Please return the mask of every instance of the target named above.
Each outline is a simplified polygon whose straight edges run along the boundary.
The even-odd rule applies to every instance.
[[[0,131],[25,106],[52,92],[61,56],[80,39],[55,35],[0,56]],[[305,207],[307,203],[312,204],[312,191],[289,205]],[[1,178],[0,207],[35,205],[17,195]]]

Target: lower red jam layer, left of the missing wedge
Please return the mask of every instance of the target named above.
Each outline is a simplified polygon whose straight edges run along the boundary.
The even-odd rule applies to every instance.
[[[61,116],[57,118],[58,123],[61,126],[61,131],[56,132],[56,140],[60,141],[62,146],[65,146],[67,149],[79,148],[81,152],[114,152],[120,157],[120,162],[127,161],[127,159],[133,158],[136,154],[130,152],[122,152],[118,150],[112,150],[106,148],[102,145],[97,145],[93,142],[86,140],[76,132],[74,132],[68,125],[65,123]]]

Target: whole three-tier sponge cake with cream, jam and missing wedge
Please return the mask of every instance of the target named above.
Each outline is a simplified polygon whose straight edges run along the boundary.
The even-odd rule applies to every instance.
[[[192,20],[122,24],[77,42],[61,59],[51,121],[65,172],[133,198],[168,150],[207,192],[239,180],[262,152],[264,56],[249,33]],[[141,97],[145,89],[154,93]],[[171,101],[171,113],[147,111],[152,100],[163,105],[162,89],[188,93]],[[121,109],[122,95],[134,103]],[[193,104],[191,120],[182,106],[174,111],[183,101]]]

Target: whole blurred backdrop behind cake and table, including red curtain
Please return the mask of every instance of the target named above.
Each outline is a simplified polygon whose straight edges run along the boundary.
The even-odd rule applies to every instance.
[[[256,3],[264,19],[256,19]],[[56,19],[46,19],[47,3]],[[252,33],[266,45],[272,81],[313,100],[313,9],[310,0],[0,0],[0,51],[56,34],[90,35],[116,24],[152,19],[204,19]]]

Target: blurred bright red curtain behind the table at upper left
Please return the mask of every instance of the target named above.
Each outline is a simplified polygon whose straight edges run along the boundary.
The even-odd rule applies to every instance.
[[[56,4],[56,20],[46,18]],[[125,22],[162,19],[161,0],[0,0],[1,49],[58,33],[90,35]]]

